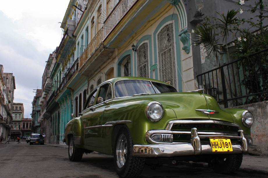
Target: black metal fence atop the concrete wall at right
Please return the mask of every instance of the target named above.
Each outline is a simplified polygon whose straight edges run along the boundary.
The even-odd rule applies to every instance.
[[[268,100],[268,48],[197,75],[198,87],[222,107]]]

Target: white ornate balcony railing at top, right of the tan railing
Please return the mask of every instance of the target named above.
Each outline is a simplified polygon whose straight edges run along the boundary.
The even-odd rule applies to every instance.
[[[128,12],[137,0],[120,0],[110,15],[104,21],[104,37],[106,38],[122,17]]]

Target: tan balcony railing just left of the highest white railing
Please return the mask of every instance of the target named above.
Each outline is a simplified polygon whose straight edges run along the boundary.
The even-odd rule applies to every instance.
[[[102,41],[103,41],[103,27],[94,36],[94,38],[91,40],[87,48],[80,56],[79,68],[81,68],[84,65],[84,63],[86,63],[91,54],[93,54],[93,52],[100,46]]]

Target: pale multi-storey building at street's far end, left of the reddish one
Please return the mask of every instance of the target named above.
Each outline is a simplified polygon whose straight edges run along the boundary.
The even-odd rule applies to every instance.
[[[22,137],[22,118],[24,118],[24,107],[23,103],[13,103],[13,120],[12,120],[12,129],[11,137]]]

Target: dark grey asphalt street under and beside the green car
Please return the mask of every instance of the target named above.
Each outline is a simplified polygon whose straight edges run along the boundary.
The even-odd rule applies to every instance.
[[[113,157],[103,154],[84,154],[81,162],[70,162],[68,149],[49,145],[0,144],[0,177],[118,177]],[[265,175],[236,172],[223,175],[196,165],[146,165],[140,177],[265,177]]]

